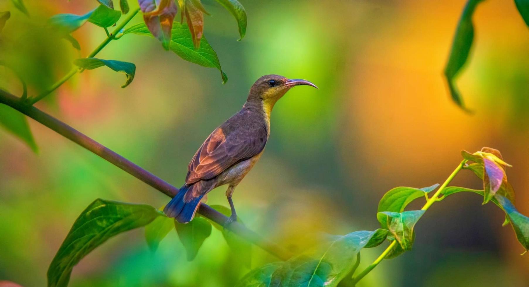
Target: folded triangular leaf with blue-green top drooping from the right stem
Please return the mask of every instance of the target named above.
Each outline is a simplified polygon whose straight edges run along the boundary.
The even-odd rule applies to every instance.
[[[377,219],[382,228],[387,228],[397,239],[400,246],[408,251],[412,249],[415,240],[415,224],[423,214],[424,210],[384,211],[377,213]]]

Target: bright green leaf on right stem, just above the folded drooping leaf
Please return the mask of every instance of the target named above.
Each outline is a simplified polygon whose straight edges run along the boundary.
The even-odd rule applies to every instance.
[[[408,203],[412,202],[417,198],[424,197],[424,195],[439,187],[439,183],[434,184],[431,187],[425,188],[413,188],[413,187],[396,187],[389,190],[380,199],[378,203],[377,212],[382,211],[394,211],[402,212]]]

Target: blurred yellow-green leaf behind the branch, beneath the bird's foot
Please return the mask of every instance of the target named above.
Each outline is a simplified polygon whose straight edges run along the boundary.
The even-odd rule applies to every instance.
[[[211,205],[209,207],[221,212],[221,214],[225,216],[229,217],[231,215],[231,209],[223,205]],[[239,216],[237,217],[237,222],[243,224]],[[222,236],[224,237],[224,240],[226,240],[227,245],[230,246],[233,255],[237,257],[244,266],[250,267],[252,262],[252,245],[214,221],[211,221],[211,223],[216,229],[222,232]]]

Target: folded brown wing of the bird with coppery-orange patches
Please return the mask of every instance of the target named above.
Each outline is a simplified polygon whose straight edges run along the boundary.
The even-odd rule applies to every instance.
[[[212,179],[265,148],[265,123],[247,116],[234,115],[206,138],[189,162],[186,183]]]

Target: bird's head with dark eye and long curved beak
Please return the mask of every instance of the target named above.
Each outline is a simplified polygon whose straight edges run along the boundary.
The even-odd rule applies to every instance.
[[[249,101],[261,101],[267,113],[272,109],[273,105],[285,93],[294,86],[307,85],[314,88],[316,85],[307,80],[302,79],[288,79],[279,75],[266,75],[259,78],[250,89],[248,95]]]

